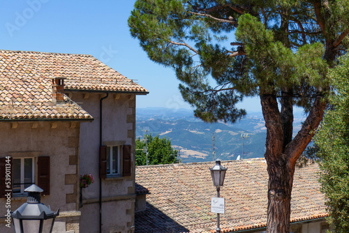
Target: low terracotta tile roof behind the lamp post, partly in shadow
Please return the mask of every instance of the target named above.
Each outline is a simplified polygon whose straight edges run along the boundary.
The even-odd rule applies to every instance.
[[[136,167],[136,183],[147,188],[147,210],[135,213],[135,232],[216,232],[216,213],[211,197],[212,163]],[[228,168],[221,197],[221,232],[265,227],[267,222],[267,164],[264,159],[222,161]],[[327,216],[320,193],[318,165],[295,172],[291,222]]]

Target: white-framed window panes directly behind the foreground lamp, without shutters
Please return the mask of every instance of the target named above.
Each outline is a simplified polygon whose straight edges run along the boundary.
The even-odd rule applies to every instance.
[[[24,194],[35,183],[34,174],[34,158],[13,158],[13,195]]]

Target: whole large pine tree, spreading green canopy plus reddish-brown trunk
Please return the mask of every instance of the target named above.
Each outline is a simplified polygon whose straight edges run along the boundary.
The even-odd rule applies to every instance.
[[[196,117],[235,122],[246,115],[237,103],[259,96],[267,232],[289,231],[295,163],[322,120],[348,23],[348,0],[138,0],[128,19],[149,59],[174,69]],[[307,113],[295,137],[294,106]]]

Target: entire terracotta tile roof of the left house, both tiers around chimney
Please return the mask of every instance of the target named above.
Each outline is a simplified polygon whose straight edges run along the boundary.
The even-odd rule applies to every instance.
[[[66,77],[66,90],[147,90],[91,55],[0,50],[0,120],[92,119],[64,96],[52,103],[52,77]]]

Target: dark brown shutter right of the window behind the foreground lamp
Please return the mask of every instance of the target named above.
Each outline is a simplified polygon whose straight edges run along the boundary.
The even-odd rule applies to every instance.
[[[50,157],[38,157],[38,186],[43,189],[42,195],[50,195]]]

